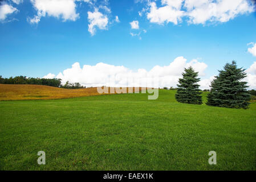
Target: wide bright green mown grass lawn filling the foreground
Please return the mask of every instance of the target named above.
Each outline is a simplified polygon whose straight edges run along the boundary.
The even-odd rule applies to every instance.
[[[227,109],[180,104],[174,94],[1,101],[0,169],[255,170],[256,102]]]

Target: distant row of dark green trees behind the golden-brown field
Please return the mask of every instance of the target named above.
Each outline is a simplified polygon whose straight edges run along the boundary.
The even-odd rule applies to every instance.
[[[66,89],[80,89],[86,88],[86,86],[81,85],[79,82],[70,83],[66,82],[66,84],[62,85],[62,80],[59,78],[31,78],[26,76],[16,76],[10,78],[3,78],[0,76],[0,84],[31,84],[31,85],[47,85],[47,86],[55,86],[59,88]]]

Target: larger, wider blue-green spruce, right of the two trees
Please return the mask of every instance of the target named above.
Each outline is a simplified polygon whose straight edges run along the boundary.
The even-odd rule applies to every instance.
[[[227,63],[224,70],[211,82],[207,105],[247,109],[250,94],[247,92],[245,69],[237,68],[237,63]]]

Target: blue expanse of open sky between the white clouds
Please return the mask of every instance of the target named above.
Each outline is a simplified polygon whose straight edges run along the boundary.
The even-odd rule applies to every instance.
[[[40,0],[2,1],[1,6],[13,7],[13,13],[3,16],[2,9],[1,19],[0,9],[0,75],[43,77],[52,73],[56,76],[75,62],[79,62],[81,68],[101,62],[123,65],[134,72],[139,68],[150,71],[156,65],[168,66],[183,56],[188,62],[196,59],[205,63],[207,68],[201,77],[208,79],[231,60],[237,60],[239,67],[246,69],[256,61],[256,53],[248,51],[256,42],[256,15],[249,1],[236,0],[246,2],[248,7],[234,7],[234,15],[228,18],[225,11],[218,15],[192,14],[192,10],[185,8],[185,0],[177,0],[181,1],[180,7],[170,0],[68,1],[74,2],[73,14],[66,13],[71,11],[68,8],[43,9]],[[210,6],[205,1],[200,5],[203,8]],[[155,13],[152,3],[156,5]],[[200,6],[193,5],[194,12]],[[216,6],[221,9],[221,1],[217,1]],[[173,18],[161,13],[160,10],[164,12],[161,7],[191,14]],[[45,11],[44,15],[40,15],[43,14],[40,10]],[[102,15],[93,34],[88,31],[92,23],[88,12]],[[39,22],[31,23],[35,16],[39,17]],[[209,16],[209,19],[202,20],[202,16]],[[132,28],[133,21],[138,21],[139,29]],[[251,74],[254,76],[254,70]]]

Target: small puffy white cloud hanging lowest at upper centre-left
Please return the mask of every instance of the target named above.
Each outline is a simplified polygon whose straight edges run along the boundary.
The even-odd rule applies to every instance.
[[[97,9],[92,13],[88,11],[88,31],[91,35],[95,35],[96,28],[98,27],[100,30],[106,30],[108,25],[108,17],[100,13]]]

